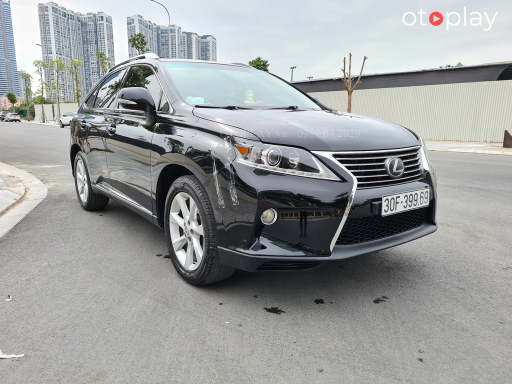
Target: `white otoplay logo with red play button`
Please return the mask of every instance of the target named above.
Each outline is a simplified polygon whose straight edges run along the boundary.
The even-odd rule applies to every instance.
[[[426,15],[427,12],[423,12],[422,9],[419,10],[419,23],[422,26],[429,25],[428,23],[423,23],[423,15]],[[491,20],[489,18],[489,15],[487,15],[487,12],[483,13],[485,16],[484,24],[482,25],[482,14],[480,12],[471,12],[469,14],[469,23],[470,26],[473,27],[484,27],[484,31],[490,30],[490,28],[494,24],[494,20],[496,20],[496,16],[498,15],[498,12],[496,12],[493,16],[493,19]],[[402,22],[406,26],[410,27],[416,24],[417,21],[416,13],[414,12],[406,12],[402,16]],[[467,9],[464,7],[464,12],[462,16],[458,12],[446,12],[446,19],[443,17],[441,12],[432,12],[429,14],[429,23],[434,27],[439,27],[443,22],[446,20],[446,31],[450,30],[450,27],[458,26],[461,22],[463,22],[464,27],[467,26],[467,20],[468,20],[468,14]],[[487,28],[485,26],[487,25]]]

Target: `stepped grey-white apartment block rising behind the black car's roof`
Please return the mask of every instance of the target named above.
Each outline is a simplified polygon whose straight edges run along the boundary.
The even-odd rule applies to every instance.
[[[200,37],[195,32],[182,32],[177,25],[157,25],[141,15],[126,17],[127,36],[142,33],[147,49],[160,57],[217,61],[217,39],[211,35]],[[129,57],[138,55],[130,44]]]

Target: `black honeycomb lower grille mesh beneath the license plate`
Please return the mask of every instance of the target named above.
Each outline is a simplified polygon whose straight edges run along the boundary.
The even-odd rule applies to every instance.
[[[417,228],[425,223],[427,207],[401,212],[391,216],[364,216],[347,218],[336,245],[364,243]]]

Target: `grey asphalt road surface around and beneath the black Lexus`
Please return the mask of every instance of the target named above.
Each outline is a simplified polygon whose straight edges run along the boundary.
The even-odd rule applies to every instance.
[[[68,148],[69,129],[0,123],[0,161],[48,187],[0,239],[0,349],[26,354],[0,359],[3,384],[512,381],[511,157],[430,152],[428,237],[194,287],[161,229],[80,208]]]

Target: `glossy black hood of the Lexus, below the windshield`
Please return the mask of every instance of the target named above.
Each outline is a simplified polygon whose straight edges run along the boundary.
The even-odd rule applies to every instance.
[[[241,129],[264,143],[310,151],[370,151],[418,145],[415,135],[389,121],[317,110],[224,110],[195,108],[194,115]],[[242,131],[243,130],[243,131]]]

